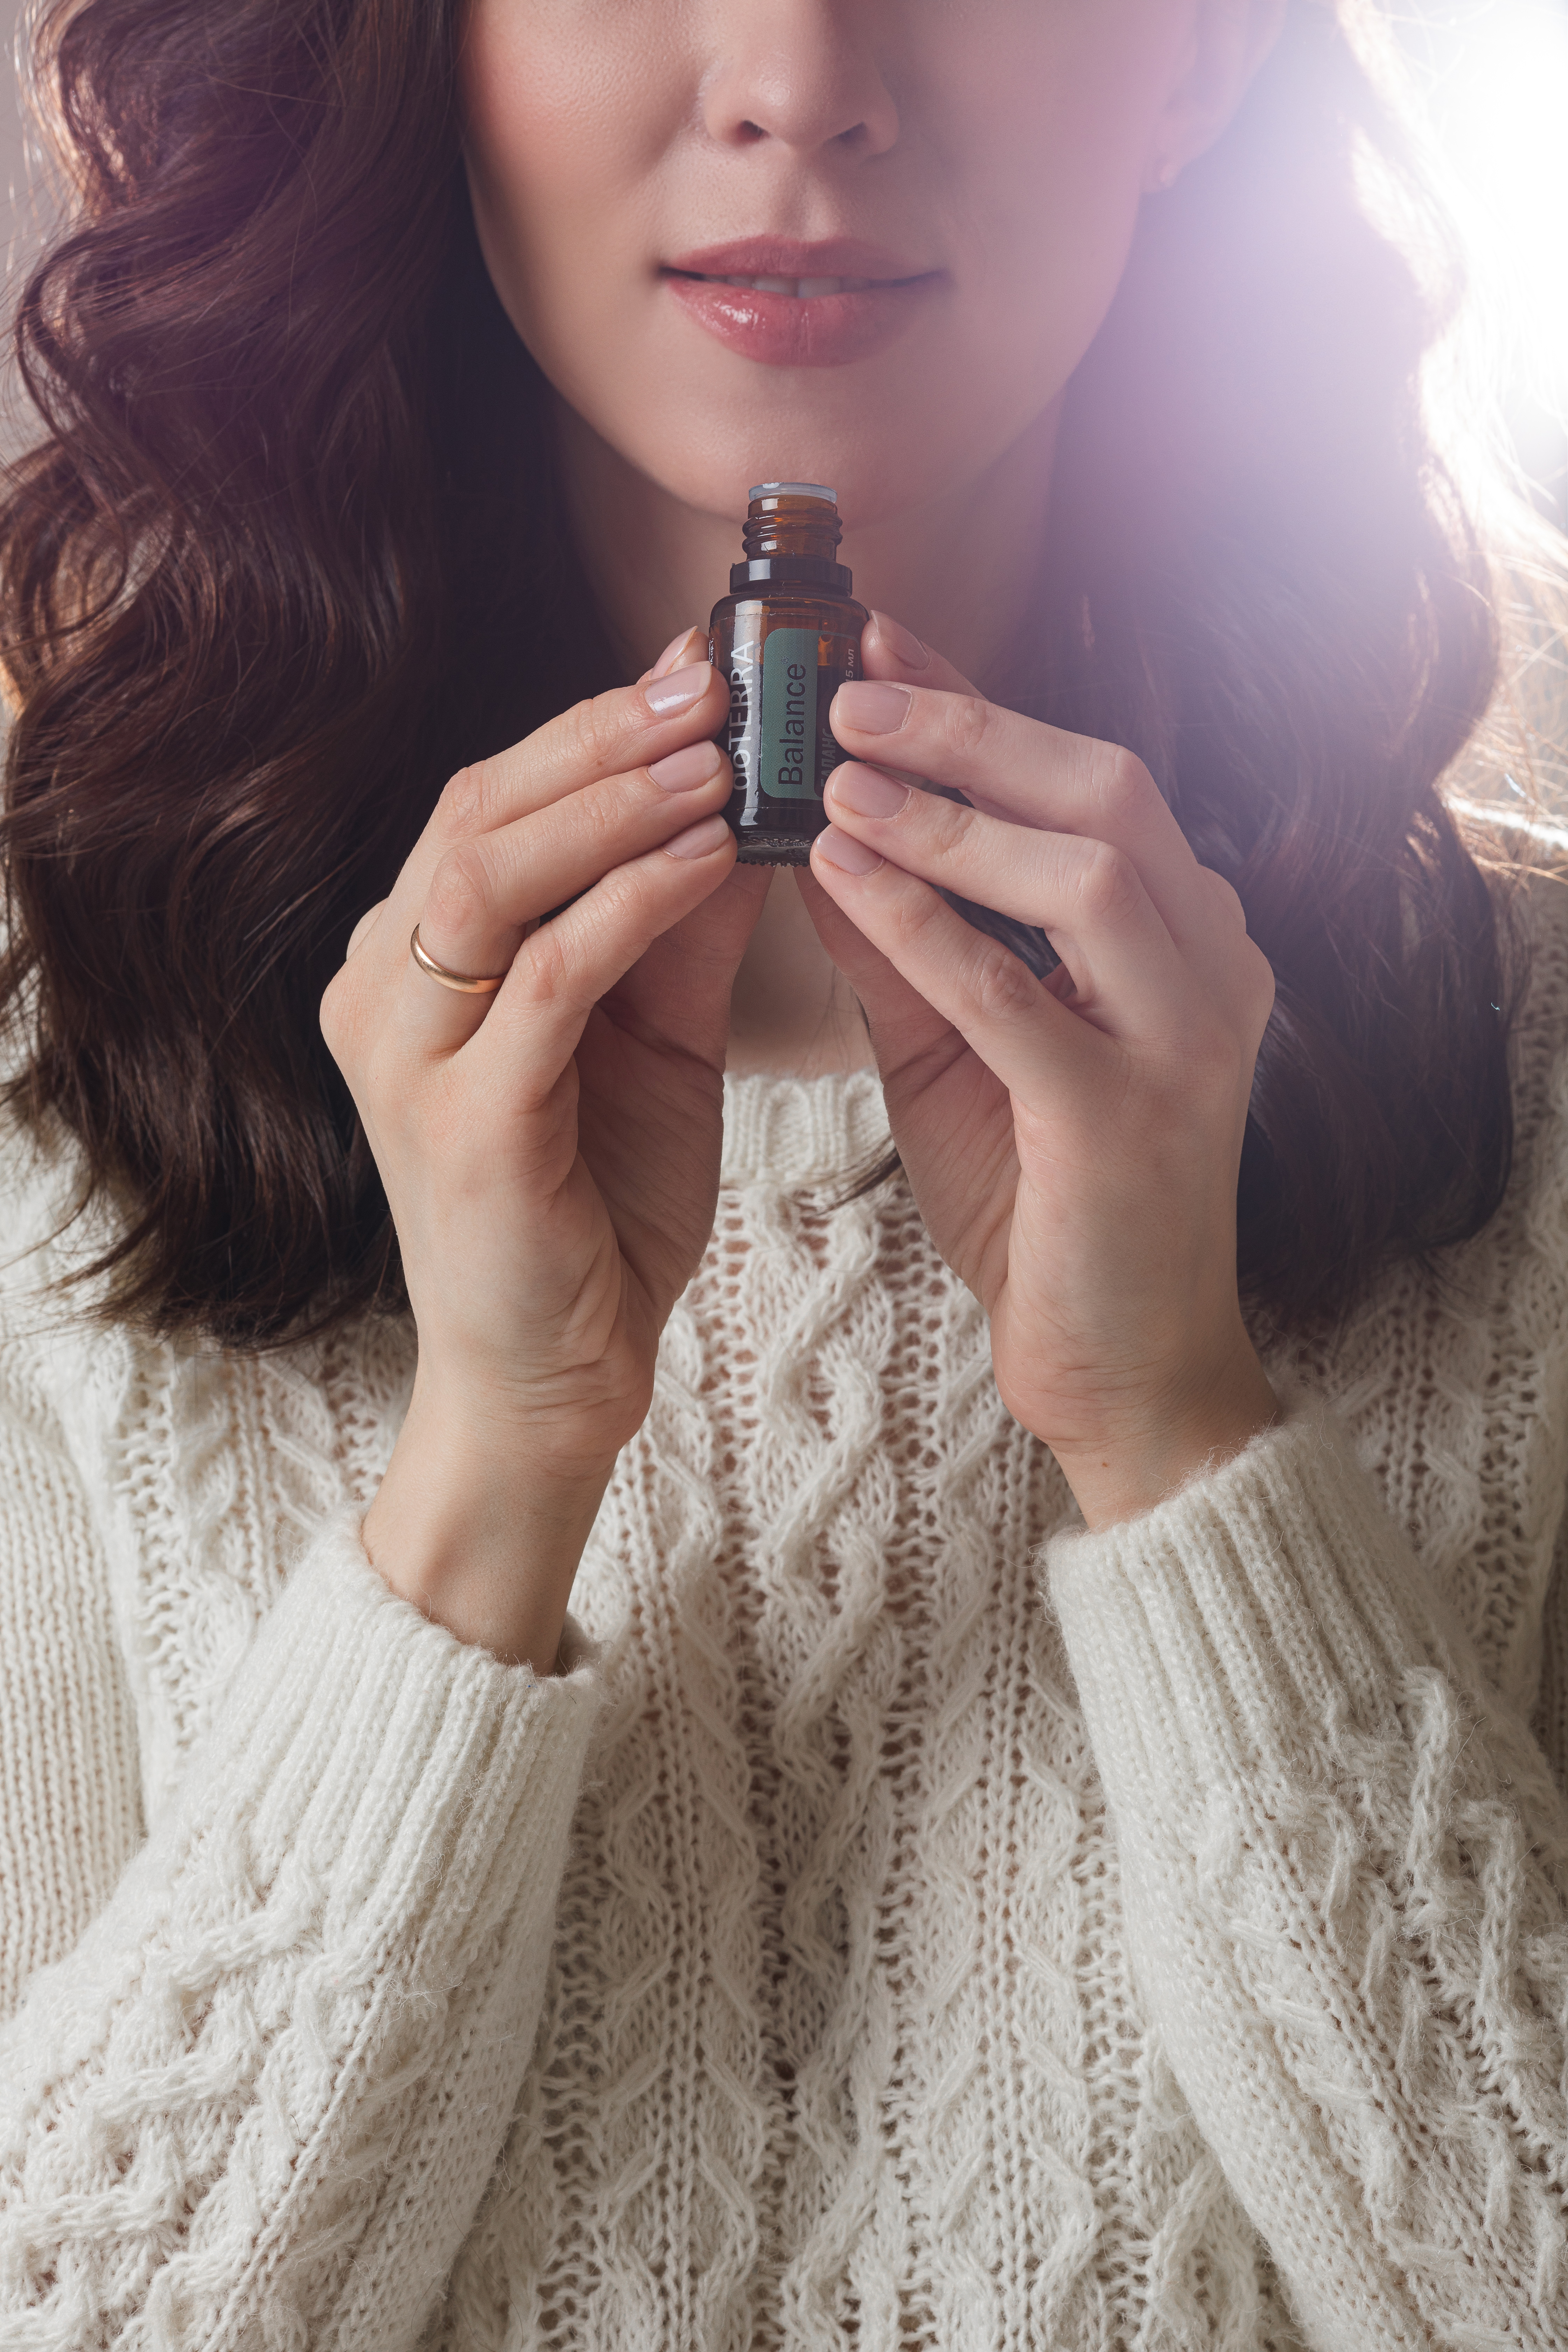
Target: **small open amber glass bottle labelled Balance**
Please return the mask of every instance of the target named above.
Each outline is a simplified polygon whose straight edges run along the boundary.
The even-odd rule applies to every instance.
[[[729,677],[729,823],[743,866],[806,866],[827,826],[823,786],[844,757],[827,708],[860,675],[865,607],[835,560],[839,501],[820,482],[757,482],[743,543],[708,637]]]

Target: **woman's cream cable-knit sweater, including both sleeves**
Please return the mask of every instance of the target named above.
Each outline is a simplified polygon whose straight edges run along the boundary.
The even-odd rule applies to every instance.
[[[1568,2345],[1533,931],[1502,1214],[1103,1536],[907,1195],[825,1209],[875,1077],[731,1082],[543,1682],[364,1559],[407,1329],[94,1334],[12,1138],[7,2352]]]

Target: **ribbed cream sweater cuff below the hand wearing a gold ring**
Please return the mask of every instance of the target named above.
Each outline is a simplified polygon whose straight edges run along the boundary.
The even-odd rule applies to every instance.
[[[559,1668],[569,1656],[541,1679],[458,1642],[383,1583],[360,1515],[334,1515],[186,1766],[172,1900],[228,1849],[268,1907],[303,1907],[346,1971],[395,1962],[456,1983],[524,1875],[559,1872],[602,1703],[576,1625]]]

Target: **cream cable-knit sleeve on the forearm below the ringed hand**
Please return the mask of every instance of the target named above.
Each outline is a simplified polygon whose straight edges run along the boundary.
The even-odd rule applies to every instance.
[[[595,1715],[590,1675],[449,1639],[322,1531],[0,2032],[0,2336],[418,2340],[536,2032]]]

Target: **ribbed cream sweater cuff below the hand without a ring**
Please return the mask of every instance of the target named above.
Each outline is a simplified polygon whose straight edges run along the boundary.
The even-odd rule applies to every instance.
[[[1476,1691],[1465,1632],[1326,1406],[1284,1418],[1138,1519],[1044,1548],[1107,1788],[1300,1773],[1387,1722],[1410,1670]],[[1479,1691],[1476,1691],[1479,1696]]]

